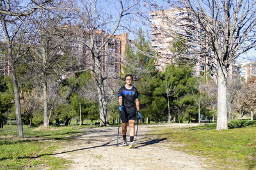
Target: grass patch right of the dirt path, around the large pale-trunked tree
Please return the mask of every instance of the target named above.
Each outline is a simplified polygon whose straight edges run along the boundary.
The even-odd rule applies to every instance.
[[[236,120],[228,131],[216,131],[216,124],[171,129],[157,127],[152,134],[182,144],[175,147],[207,158],[214,169],[256,169],[256,120]],[[211,164],[211,166],[209,166]]]

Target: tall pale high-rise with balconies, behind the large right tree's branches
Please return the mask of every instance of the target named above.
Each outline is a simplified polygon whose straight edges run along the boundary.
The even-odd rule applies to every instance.
[[[153,11],[150,15],[152,17],[152,48],[159,53],[157,67],[160,71],[164,70],[166,64],[174,63],[175,58],[179,55],[171,49],[175,36],[176,38],[179,38],[179,36],[185,38],[186,46],[184,48],[186,48],[188,57],[193,55],[192,53],[195,51],[204,50],[204,46],[207,44],[204,42],[204,29],[201,29],[200,24],[193,20],[188,11],[173,8],[164,11]],[[194,75],[200,76],[200,73],[205,73],[208,69],[205,65],[207,58],[200,54],[194,56],[195,58]],[[216,60],[212,59],[212,62],[216,62]]]

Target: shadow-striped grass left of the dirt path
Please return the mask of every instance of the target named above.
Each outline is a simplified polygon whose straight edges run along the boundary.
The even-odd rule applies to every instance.
[[[24,129],[24,138],[17,138],[17,131],[1,131],[0,169],[67,168],[70,161],[51,155],[61,141],[79,132],[77,127],[36,127]]]

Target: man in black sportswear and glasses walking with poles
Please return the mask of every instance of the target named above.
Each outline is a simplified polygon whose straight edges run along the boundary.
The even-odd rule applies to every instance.
[[[136,143],[134,140],[134,124],[136,120],[136,109],[138,117],[141,118],[140,114],[140,95],[138,90],[132,86],[132,75],[125,75],[125,85],[119,89],[118,101],[119,101],[119,110],[120,117],[122,120],[122,134],[123,134],[123,146],[127,146],[126,141],[126,132],[127,132],[127,123],[129,122],[129,135],[130,135],[130,144],[129,148],[134,148]]]

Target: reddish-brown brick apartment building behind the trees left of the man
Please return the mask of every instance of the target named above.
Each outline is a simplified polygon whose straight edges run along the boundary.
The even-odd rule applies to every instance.
[[[72,41],[72,53],[77,59],[77,69],[79,69],[79,67],[92,68],[92,55],[89,49],[84,45],[84,43],[82,43],[83,41],[89,42],[90,39],[88,38],[90,37],[78,26],[76,26],[76,29],[79,29],[80,33],[74,37]],[[102,45],[108,36],[109,34],[106,34],[104,31],[97,31],[95,33],[96,45]],[[102,76],[120,76],[120,73],[122,72],[121,63],[125,55],[125,46],[128,45],[128,43],[128,33],[124,32],[120,35],[113,35],[109,39],[108,43],[104,45],[103,50],[100,51]]]

